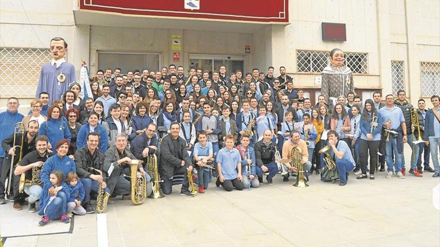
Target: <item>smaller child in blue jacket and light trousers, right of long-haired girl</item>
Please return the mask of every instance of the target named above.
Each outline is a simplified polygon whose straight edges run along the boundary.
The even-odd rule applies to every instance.
[[[85,209],[81,206],[84,200],[85,190],[78,175],[75,172],[69,172],[66,179],[70,197],[67,199],[67,217],[75,215],[85,215]]]

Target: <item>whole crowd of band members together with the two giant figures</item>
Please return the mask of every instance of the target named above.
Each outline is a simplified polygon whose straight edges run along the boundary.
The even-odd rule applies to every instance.
[[[440,97],[430,98],[431,109],[423,99],[413,107],[403,90],[396,99],[379,92],[361,99],[337,48],[322,71],[316,104],[282,66],[277,77],[273,67],[244,74],[225,66],[188,74],[174,64],[160,71],[107,68],[91,78],[92,95],[80,98],[84,89],[63,58],[67,43],[55,37],[50,51],[28,115],[18,113],[15,97],[0,113],[0,204],[13,202],[14,210],[28,204],[41,226],[94,213],[90,201],[99,187],[129,200],[132,160],[143,161],[136,169],[146,183],[159,181],[146,165],[152,155],[161,193],[169,195],[183,175],[180,195],[187,197],[194,196],[190,180],[198,193],[211,180],[225,191],[273,185],[277,174],[283,182],[302,173],[306,181],[315,174],[344,186],[351,171],[357,179],[374,180],[385,170],[386,178],[404,179],[408,163],[413,176],[439,177]],[[412,150],[408,162],[404,143]],[[36,174],[40,183],[32,180]]]

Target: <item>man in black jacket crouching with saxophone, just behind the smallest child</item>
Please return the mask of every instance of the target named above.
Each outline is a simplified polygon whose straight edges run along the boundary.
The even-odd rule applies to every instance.
[[[93,214],[94,210],[90,204],[90,192],[97,192],[99,183],[105,188],[104,191],[109,193],[106,187],[104,178],[95,170],[103,171],[104,153],[97,147],[99,145],[98,133],[91,132],[87,135],[87,145],[76,149],[75,163],[76,173],[84,186],[85,196],[82,202],[82,207],[87,214]],[[93,168],[93,169],[90,169]]]

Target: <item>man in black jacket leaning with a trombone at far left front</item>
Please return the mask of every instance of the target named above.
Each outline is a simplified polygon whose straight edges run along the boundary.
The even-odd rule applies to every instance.
[[[7,156],[3,160],[3,166],[1,168],[1,176],[0,176],[0,204],[4,204],[4,189],[5,189],[5,182],[6,177],[9,176],[9,172],[13,174],[15,168],[12,168],[12,171],[10,170],[10,164],[12,155],[13,156],[13,162],[12,164],[17,164],[20,152],[22,157],[24,157],[26,154],[32,152],[35,150],[35,136],[38,133],[38,122],[36,120],[29,121],[27,123],[27,131],[24,131],[23,134],[17,133],[17,134],[11,134],[10,136],[6,137],[1,142],[1,148],[6,152]],[[22,136],[24,135],[24,136]],[[15,137],[15,138],[14,138]],[[15,139],[15,143],[14,143]],[[21,143],[21,140],[23,142]],[[15,147],[21,147],[21,150],[19,148]],[[21,198],[21,196],[18,193],[18,181],[19,177],[12,176],[12,181],[9,181],[8,183],[12,183],[10,186],[10,194],[13,195],[13,209],[14,210],[21,210],[21,204],[24,203],[24,198]]]

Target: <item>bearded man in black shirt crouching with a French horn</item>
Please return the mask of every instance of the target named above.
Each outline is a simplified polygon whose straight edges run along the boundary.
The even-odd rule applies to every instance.
[[[24,173],[24,178],[26,180],[31,180],[32,168],[38,167],[41,169],[47,158],[53,156],[53,153],[47,150],[47,137],[45,135],[39,135],[35,138],[35,149],[36,150],[26,154],[21,162],[17,165],[14,171],[15,176],[19,177],[22,173]],[[41,190],[42,185],[34,184],[24,187],[24,193],[29,195],[29,197],[27,197],[27,202],[29,203],[29,208],[27,210],[30,213],[36,212],[35,202],[39,200]]]

